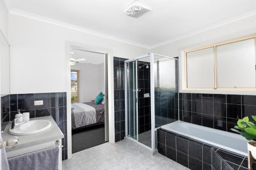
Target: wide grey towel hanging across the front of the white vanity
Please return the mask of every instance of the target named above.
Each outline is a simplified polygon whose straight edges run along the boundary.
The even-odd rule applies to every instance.
[[[51,147],[8,158],[10,170],[57,170],[59,147]]]

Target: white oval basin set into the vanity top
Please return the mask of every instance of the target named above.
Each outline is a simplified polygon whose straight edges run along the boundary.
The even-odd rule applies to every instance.
[[[51,127],[49,120],[31,120],[26,123],[17,125],[14,129],[9,129],[8,133],[11,135],[31,135],[47,130]]]

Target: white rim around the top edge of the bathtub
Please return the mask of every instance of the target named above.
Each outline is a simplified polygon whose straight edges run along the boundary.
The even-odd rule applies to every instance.
[[[217,133],[224,134],[224,135],[227,135],[227,136],[230,136],[230,137],[234,137],[234,138],[237,138],[237,139],[241,139],[241,140],[244,140],[244,141],[248,142],[243,136],[241,136],[239,134],[234,134],[234,133],[231,133],[231,132],[226,132],[226,131],[222,131],[222,130],[218,130],[218,129],[208,128],[208,127],[204,127],[204,126],[200,126],[200,125],[190,124],[190,123],[182,122],[180,120],[178,120],[176,122],[173,122],[173,123],[170,123],[170,124],[178,124],[178,123],[179,124],[181,124],[181,123],[182,124],[188,124],[189,126],[194,126],[194,127],[201,127],[201,128],[203,127],[204,129],[209,129],[210,131],[214,130]],[[195,139],[195,140],[201,141],[202,143],[211,145],[212,147],[217,147],[217,148],[223,149],[225,151],[228,151],[228,152],[231,152],[231,153],[234,153],[234,154],[248,156],[247,151],[246,152],[242,152],[242,151],[239,151],[239,150],[236,150],[236,149],[229,148],[229,147],[224,146],[224,145],[219,144],[219,143],[211,142],[209,140],[205,140],[205,139],[202,139],[202,138],[199,138],[199,137],[195,137],[195,136],[192,136],[192,135],[180,132],[180,131],[176,131],[176,130],[170,129],[170,128],[167,127],[170,124],[163,125],[163,126],[161,126],[161,128],[166,130],[166,131],[169,131],[169,132],[173,132],[173,133],[176,133],[176,134],[180,134],[180,135],[186,136],[187,138],[191,138],[191,139]]]

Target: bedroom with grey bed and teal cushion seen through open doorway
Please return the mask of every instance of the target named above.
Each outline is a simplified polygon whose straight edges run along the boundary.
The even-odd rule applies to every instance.
[[[76,47],[70,55],[72,153],[76,153],[108,138],[104,123],[105,55]]]

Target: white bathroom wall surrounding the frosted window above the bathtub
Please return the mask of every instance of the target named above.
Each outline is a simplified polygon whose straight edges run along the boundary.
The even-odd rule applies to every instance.
[[[234,38],[239,38],[247,35],[252,35],[256,33],[256,16],[250,16],[232,23],[228,23],[227,25],[223,25],[218,28],[213,28],[211,30],[201,32],[196,35],[191,35],[186,38],[167,43],[165,45],[161,45],[155,47],[151,50],[151,53],[161,54],[169,57],[179,57],[179,78],[180,78],[180,91],[183,89],[184,85],[184,59],[183,59],[183,51],[184,50],[191,50],[193,48],[206,46],[226,40],[231,40]],[[183,91],[184,92],[184,91]],[[186,92],[193,92],[193,91],[186,91]],[[217,92],[215,90],[212,91],[200,91],[205,93],[214,93]],[[224,91],[218,91],[217,93],[223,93]],[[224,93],[230,94],[246,94],[237,92],[228,92],[225,91]],[[247,94],[252,94],[252,92],[247,92]]]

